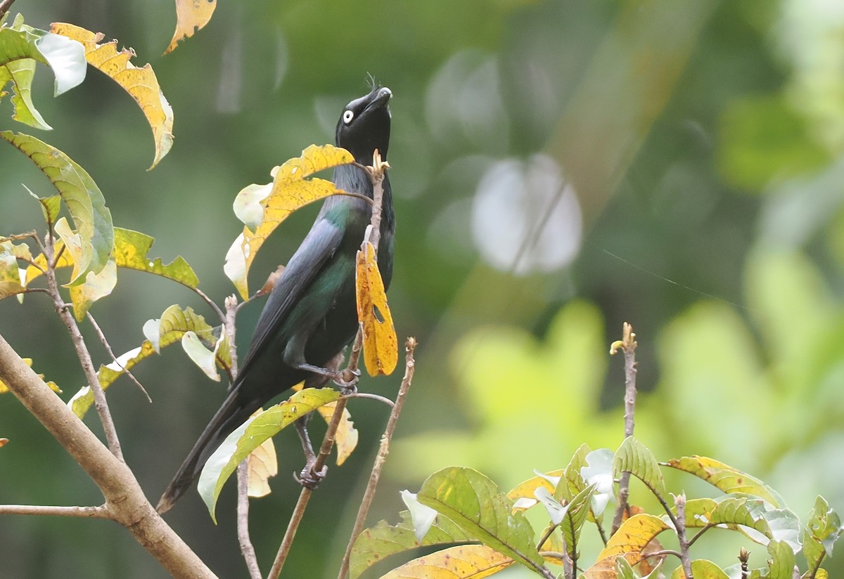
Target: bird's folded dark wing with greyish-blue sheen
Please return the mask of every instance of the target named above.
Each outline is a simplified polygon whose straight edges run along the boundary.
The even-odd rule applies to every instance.
[[[255,334],[252,335],[249,351],[239,372],[240,376],[246,377],[252,362],[261,356],[271,340],[279,338],[284,320],[337,251],[343,241],[343,235],[343,230],[332,220],[317,217],[317,222],[290,258],[270,293],[258,319]]]

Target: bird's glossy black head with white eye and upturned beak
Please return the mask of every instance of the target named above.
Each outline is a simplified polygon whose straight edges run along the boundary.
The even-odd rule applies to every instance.
[[[343,110],[337,122],[336,142],[354,155],[360,164],[371,165],[372,153],[378,149],[387,159],[390,145],[390,97],[387,87],[372,88],[370,94],[354,99]]]

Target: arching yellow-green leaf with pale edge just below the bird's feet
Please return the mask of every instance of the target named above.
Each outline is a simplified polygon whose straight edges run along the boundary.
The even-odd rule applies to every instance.
[[[332,388],[301,389],[284,402],[252,417],[232,432],[208,458],[202,474],[199,475],[199,495],[203,497],[214,523],[217,523],[215,510],[219,493],[241,460],[284,427],[339,398],[338,391]]]

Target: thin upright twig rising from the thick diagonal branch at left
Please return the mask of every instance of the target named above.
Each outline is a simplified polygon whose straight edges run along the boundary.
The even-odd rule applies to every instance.
[[[52,232],[49,231],[47,233],[47,244],[44,248],[44,256],[47,258],[47,263],[54,263],[52,260],[53,248]],[[94,369],[94,362],[91,360],[90,351],[88,350],[88,346],[85,346],[85,339],[82,332],[79,331],[76,319],[74,319],[73,315],[70,314],[68,307],[62,300],[62,294],[58,291],[56,270],[52,266],[46,271],[46,280],[47,289],[50,292],[53,305],[56,308],[56,313],[68,328],[71,340],[73,340],[73,347],[76,349],[76,355],[79,358],[79,363],[82,365],[85,378],[88,379],[91,391],[94,393],[94,405],[97,409],[97,414],[100,415],[100,422],[102,423],[103,431],[106,432],[108,447],[116,458],[120,459],[121,462],[125,462],[120,448],[120,439],[117,437],[117,430],[114,426],[114,421],[111,418],[111,410],[109,410],[108,402],[106,402],[106,394],[100,387],[100,378],[97,377],[97,373]]]

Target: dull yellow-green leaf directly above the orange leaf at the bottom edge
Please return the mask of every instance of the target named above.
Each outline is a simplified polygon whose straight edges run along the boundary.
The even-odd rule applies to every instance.
[[[349,557],[350,579],[357,579],[364,571],[390,555],[432,545],[466,543],[475,540],[451,519],[437,515],[425,537],[420,541],[414,533],[410,512],[400,513],[402,522],[392,526],[381,521],[367,528],[354,541]]]

